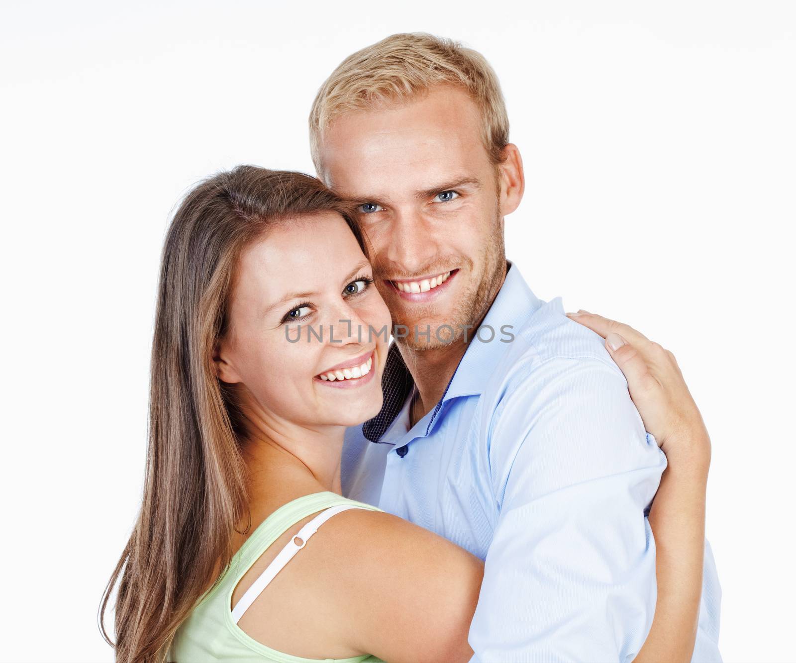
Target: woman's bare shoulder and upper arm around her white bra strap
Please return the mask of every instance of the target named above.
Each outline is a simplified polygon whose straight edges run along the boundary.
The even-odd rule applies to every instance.
[[[284,532],[241,584],[251,584],[310,519]],[[481,560],[442,536],[382,511],[347,509],[279,571],[240,627],[307,658],[468,661],[482,575]]]

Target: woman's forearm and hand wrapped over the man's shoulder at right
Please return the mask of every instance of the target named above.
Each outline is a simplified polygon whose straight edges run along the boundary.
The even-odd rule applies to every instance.
[[[606,338],[646,431],[657,439],[668,461],[649,517],[656,544],[655,616],[634,660],[687,663],[696,640],[702,590],[708,431],[669,350],[599,315],[568,315]]]

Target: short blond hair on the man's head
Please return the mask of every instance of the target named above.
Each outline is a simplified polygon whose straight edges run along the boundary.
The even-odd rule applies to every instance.
[[[482,115],[482,141],[504,161],[509,117],[500,83],[486,58],[458,41],[427,33],[392,34],[346,57],[322,84],[310,111],[310,150],[321,173],[323,132],[335,118],[384,103],[405,103],[439,84],[464,89]]]

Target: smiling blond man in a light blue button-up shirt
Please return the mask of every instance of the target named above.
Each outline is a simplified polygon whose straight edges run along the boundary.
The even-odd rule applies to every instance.
[[[632,660],[655,608],[646,509],[665,456],[601,339],[505,258],[525,181],[490,65],[388,37],[326,80],[310,139],[319,176],[360,203],[399,330],[384,408],[346,435],[344,493],[486,560],[474,661]],[[709,548],[704,583],[693,660],[716,661]]]

